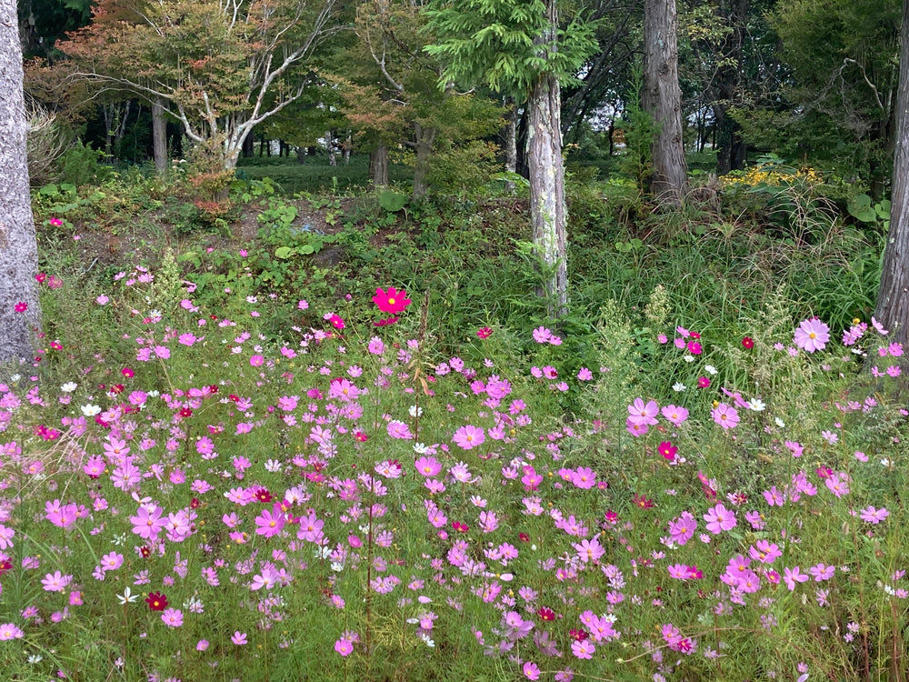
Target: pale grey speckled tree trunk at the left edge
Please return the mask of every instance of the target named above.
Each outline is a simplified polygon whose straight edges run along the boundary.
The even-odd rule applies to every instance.
[[[0,0],[0,363],[32,360],[41,324],[22,77],[15,0]]]

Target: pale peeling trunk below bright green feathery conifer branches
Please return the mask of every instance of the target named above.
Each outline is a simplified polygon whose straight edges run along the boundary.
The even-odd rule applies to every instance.
[[[555,0],[546,0],[546,18],[558,25]],[[544,37],[544,45],[554,42],[554,35]],[[547,45],[549,49],[553,45]],[[555,75],[539,75],[527,99],[527,165],[530,175],[530,222],[534,245],[539,248],[548,270],[544,289],[549,315],[557,318],[567,313],[567,210],[565,176],[562,164],[561,93]]]

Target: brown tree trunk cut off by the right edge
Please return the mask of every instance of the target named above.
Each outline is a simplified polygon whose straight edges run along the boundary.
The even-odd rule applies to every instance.
[[[890,230],[874,316],[891,330],[894,342],[905,345],[909,341],[909,0],[903,0],[895,136]]]

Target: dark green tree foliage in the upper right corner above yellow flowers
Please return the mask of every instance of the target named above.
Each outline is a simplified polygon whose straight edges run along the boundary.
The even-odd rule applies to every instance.
[[[772,25],[792,69],[784,96],[793,105],[764,115],[751,135],[783,130],[790,155],[842,162],[879,194],[894,150],[899,0],[791,0]]]

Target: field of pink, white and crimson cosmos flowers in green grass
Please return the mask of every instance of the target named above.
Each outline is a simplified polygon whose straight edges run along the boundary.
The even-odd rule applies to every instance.
[[[656,268],[521,326],[416,265],[303,297],[274,245],[48,244],[0,384],[5,679],[904,679],[904,351],[870,316]]]

